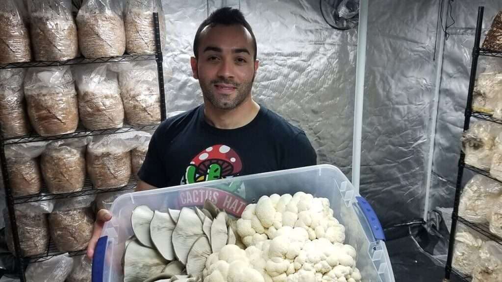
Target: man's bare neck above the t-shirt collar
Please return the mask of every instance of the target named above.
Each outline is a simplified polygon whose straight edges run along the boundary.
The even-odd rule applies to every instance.
[[[204,99],[204,117],[206,121],[220,129],[235,129],[251,122],[260,111],[260,105],[252,98],[246,99],[236,108],[222,110],[215,108]]]

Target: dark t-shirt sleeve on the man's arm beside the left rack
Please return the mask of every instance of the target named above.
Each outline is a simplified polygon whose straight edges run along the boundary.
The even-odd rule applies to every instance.
[[[162,188],[169,183],[168,179],[166,179],[165,163],[162,160],[163,150],[160,147],[161,144],[159,130],[156,130],[150,140],[145,161],[138,172],[138,177],[142,181],[158,188]]]

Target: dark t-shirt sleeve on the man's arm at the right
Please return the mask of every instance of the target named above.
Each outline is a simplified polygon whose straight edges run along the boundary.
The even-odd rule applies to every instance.
[[[298,132],[285,152],[283,170],[317,165],[317,154],[304,131]]]

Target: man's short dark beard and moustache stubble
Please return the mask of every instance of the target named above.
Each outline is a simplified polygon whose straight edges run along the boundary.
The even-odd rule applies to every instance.
[[[231,80],[221,78],[211,80],[209,83],[200,83],[200,88],[202,89],[202,95],[204,95],[204,98],[206,98],[215,108],[221,110],[231,110],[238,107],[249,95],[251,95],[251,89],[254,81],[255,75],[253,75],[253,79],[251,81],[243,83],[235,83]],[[213,89],[214,84],[216,83],[230,84],[235,87],[235,96],[221,96],[214,93]]]

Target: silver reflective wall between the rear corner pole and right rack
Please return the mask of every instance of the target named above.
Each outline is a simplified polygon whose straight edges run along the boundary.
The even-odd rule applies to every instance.
[[[502,10],[502,1],[464,0],[455,1],[451,6],[451,16],[455,23],[448,29],[450,35],[444,47],[434,139],[430,209],[453,206],[478,6],[485,7],[482,42],[496,13]],[[448,18],[448,25],[452,23],[452,19]],[[480,57],[477,73],[490,70],[502,71],[502,60]],[[468,171],[464,172],[464,183],[470,176]]]

